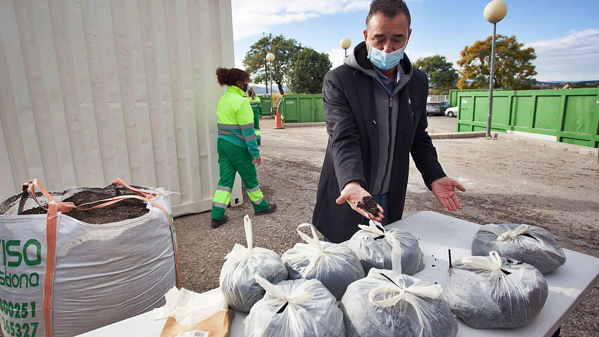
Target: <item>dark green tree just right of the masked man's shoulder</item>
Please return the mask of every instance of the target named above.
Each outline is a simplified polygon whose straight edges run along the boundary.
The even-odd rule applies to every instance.
[[[453,64],[448,62],[445,56],[433,55],[419,58],[414,62],[414,67],[426,73],[428,84],[435,89],[435,94],[447,95],[450,89],[455,89],[458,82],[458,71],[453,68]]]

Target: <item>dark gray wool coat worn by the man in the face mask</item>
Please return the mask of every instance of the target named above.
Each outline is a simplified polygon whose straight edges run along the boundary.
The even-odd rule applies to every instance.
[[[364,72],[373,69],[367,59],[364,42],[355,47],[352,58],[362,70],[346,62],[329,71],[322,86],[322,104],[329,140],[320,172],[312,222],[320,233],[337,243],[348,240],[358,231],[358,224],[368,223],[368,219],[353,210],[349,204],[339,205],[335,200],[346,183],[352,180],[358,180],[364,189],[376,194],[371,188],[375,175],[379,172],[379,156],[382,151],[388,151],[379,147],[378,137],[380,132],[388,130],[380,130],[380,123],[377,124],[376,121],[380,118],[391,121],[389,113],[377,114],[373,86],[381,84]],[[392,170],[387,172],[391,174],[389,209],[385,209],[385,217],[389,218],[389,223],[401,219],[403,215],[410,154],[429,189],[435,179],[446,176],[437,160],[437,151],[432,145],[431,137],[426,132],[426,74],[413,68],[407,56],[404,56],[400,66],[403,73],[411,76],[393,98],[397,102],[394,104],[399,106],[395,139],[391,140],[395,142]]]

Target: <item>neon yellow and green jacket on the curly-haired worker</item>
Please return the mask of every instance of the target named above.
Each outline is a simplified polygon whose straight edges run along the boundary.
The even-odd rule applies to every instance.
[[[241,148],[247,148],[253,158],[260,157],[254,113],[244,92],[237,86],[229,86],[216,108],[219,139],[224,139]]]

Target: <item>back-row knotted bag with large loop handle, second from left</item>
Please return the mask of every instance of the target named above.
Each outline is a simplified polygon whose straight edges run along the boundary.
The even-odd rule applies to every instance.
[[[301,231],[304,227],[310,227],[312,237]],[[289,279],[315,278],[340,299],[347,285],[365,276],[362,263],[352,249],[320,241],[311,224],[299,225],[297,232],[307,243],[296,243],[283,253]]]

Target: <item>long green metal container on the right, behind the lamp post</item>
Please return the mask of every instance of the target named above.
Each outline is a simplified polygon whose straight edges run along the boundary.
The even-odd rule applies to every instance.
[[[458,131],[485,131],[488,91],[458,91]],[[599,148],[599,89],[493,91],[491,130]]]

